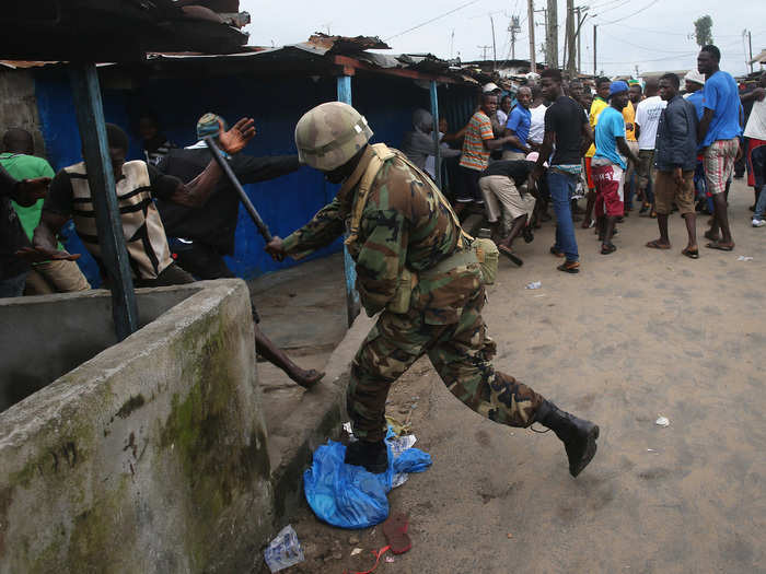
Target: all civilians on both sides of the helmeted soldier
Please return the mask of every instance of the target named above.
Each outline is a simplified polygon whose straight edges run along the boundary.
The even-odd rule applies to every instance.
[[[673,73],[643,85],[597,78],[593,93],[579,79],[566,80],[554,69],[531,74],[513,95],[489,83],[476,112],[456,132],[449,132],[441,118],[434,139],[433,118],[416,110],[402,151],[431,180],[437,145],[441,157],[454,161],[449,185],[454,212],[461,220],[483,214],[499,253],[518,266],[523,260],[514,242],[532,242],[534,230],[555,218],[549,253],[560,259],[559,270],[579,272],[576,223],[594,227],[601,254],[612,254],[618,225],[634,210],[634,201],[640,203],[639,215],[658,221],[659,238],[647,247],[671,248],[669,219],[677,210],[688,234],[685,256],[699,257],[700,211],[711,215],[707,247],[732,250],[727,197],[741,156],[755,190],[752,225],[766,225],[766,73],[758,85],[742,91],[719,63],[718,48],[705,46],[697,68],[683,79],[683,92],[682,79]],[[243,184],[294,172],[299,156],[239,153],[254,134],[248,119],[228,129],[221,117],[207,114],[196,126],[198,141],[186,148],[162,134],[152,114],[144,114],[137,127],[146,161],[126,161],[126,132],[115,125],[106,129],[135,284],[233,277],[224,256],[234,251],[239,197],[211,161],[204,138],[216,138]],[[2,177],[18,185],[9,184],[0,198],[0,297],[91,288],[76,262],[79,255],[70,255],[60,243],[69,221],[108,284],[85,163],[55,174],[35,155],[32,134],[20,128],[5,132],[3,147]],[[45,198],[30,201],[28,192],[20,194],[30,187],[27,181],[34,189],[45,184]],[[581,198],[584,209],[578,204]],[[253,316],[257,324],[255,308]],[[322,377],[295,365],[257,326],[256,342],[258,353],[298,384],[310,387]]]

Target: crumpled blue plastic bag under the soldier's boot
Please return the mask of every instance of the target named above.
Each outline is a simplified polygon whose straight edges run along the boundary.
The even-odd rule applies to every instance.
[[[393,433],[388,430],[388,437]],[[327,441],[314,452],[311,468],[303,473],[303,491],[317,518],[340,528],[367,528],[388,517],[388,499],[394,476],[422,472],[431,466],[431,456],[408,448],[394,459],[388,448],[388,469],[381,475],[344,462],[346,447]]]

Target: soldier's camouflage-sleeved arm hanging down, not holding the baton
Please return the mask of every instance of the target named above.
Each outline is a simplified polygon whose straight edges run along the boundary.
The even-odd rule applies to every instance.
[[[409,232],[401,211],[374,210],[362,220],[367,241],[357,258],[357,289],[372,317],[394,298],[407,258]]]

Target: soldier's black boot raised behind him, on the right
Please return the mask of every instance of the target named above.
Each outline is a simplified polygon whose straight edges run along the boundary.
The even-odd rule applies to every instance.
[[[599,425],[578,419],[547,400],[537,409],[535,422],[547,426],[561,440],[569,458],[569,473],[577,477],[595,455]]]

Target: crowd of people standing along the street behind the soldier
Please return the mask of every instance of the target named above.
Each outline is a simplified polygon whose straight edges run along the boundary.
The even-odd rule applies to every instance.
[[[565,259],[558,269],[571,273],[580,269],[574,224],[595,227],[601,254],[612,254],[617,226],[636,201],[639,216],[658,221],[660,236],[647,247],[671,248],[669,216],[678,211],[688,233],[683,255],[699,257],[699,212],[711,215],[706,247],[732,250],[728,195],[745,165],[755,192],[752,225],[766,225],[766,195],[759,192],[766,74],[755,86],[738,86],[719,65],[720,51],[710,45],[683,78],[666,73],[643,85],[596,78],[591,93],[581,80],[566,80],[556,70],[530,74],[515,97],[486,84],[468,124],[449,138],[439,134],[441,156],[456,156],[459,165],[449,186],[455,211],[462,219],[481,213],[500,253],[521,266],[513,241],[531,242],[553,206],[550,253]],[[426,110],[416,116],[426,118],[416,121],[419,144],[408,133],[402,149],[425,164],[436,154],[431,117]],[[578,204],[583,196],[584,209]]]

